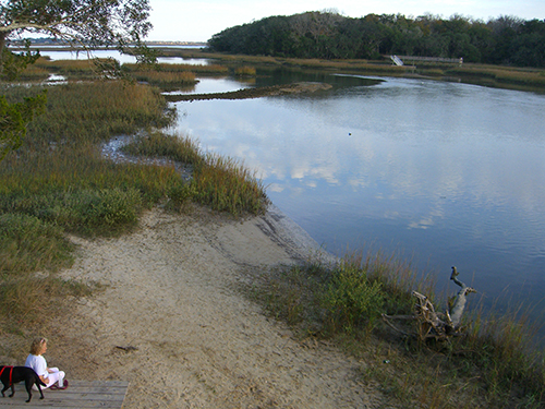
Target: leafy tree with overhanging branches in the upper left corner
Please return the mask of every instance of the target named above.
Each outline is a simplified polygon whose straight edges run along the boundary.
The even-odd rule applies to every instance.
[[[33,63],[28,36],[45,34],[90,50],[98,46],[123,50],[135,45],[138,61],[153,59],[142,45],[152,24],[148,0],[0,0],[0,77],[11,79]],[[14,53],[9,41],[26,39],[26,52]],[[45,106],[45,97],[9,104],[0,97],[0,160],[20,145],[26,123]]]

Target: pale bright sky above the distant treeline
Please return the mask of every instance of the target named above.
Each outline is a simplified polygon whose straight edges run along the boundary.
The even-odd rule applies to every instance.
[[[545,19],[545,0],[149,0],[148,40],[206,41],[226,28],[271,15],[335,10],[349,17],[370,13],[452,14],[487,21],[500,15]],[[334,5],[335,4],[335,5]]]

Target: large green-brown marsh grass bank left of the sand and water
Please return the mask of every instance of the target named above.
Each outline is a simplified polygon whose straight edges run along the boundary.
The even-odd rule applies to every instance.
[[[5,86],[2,94],[19,101],[41,91]],[[192,201],[233,215],[264,212],[265,190],[241,164],[157,131],[175,118],[157,89],[80,82],[48,87],[47,97],[47,112],[28,125],[23,146],[0,163],[0,335],[47,326],[45,316],[93,290],[56,276],[74,260],[68,234],[116,237],[150,206],[180,210]],[[102,157],[112,136],[135,133],[147,135],[126,146],[143,156],[140,163]],[[173,164],[153,165],[146,156],[191,164],[193,178],[185,182]]]

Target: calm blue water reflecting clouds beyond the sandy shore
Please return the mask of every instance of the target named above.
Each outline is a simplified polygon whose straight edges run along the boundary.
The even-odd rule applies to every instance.
[[[330,252],[397,252],[485,300],[545,303],[545,96],[320,75],[306,96],[178,103],[177,130],[244,160]],[[262,81],[262,80],[259,80]],[[288,82],[284,76],[270,82]],[[195,92],[243,87],[203,80]]]

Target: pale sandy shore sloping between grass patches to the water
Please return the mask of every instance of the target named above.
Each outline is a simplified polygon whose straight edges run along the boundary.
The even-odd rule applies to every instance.
[[[129,381],[125,408],[377,406],[363,362],[295,339],[238,290],[316,255],[277,209],[240,222],[156,208],[120,239],[73,240],[78,257],[62,275],[106,288],[53,324],[48,362],[69,380]]]

